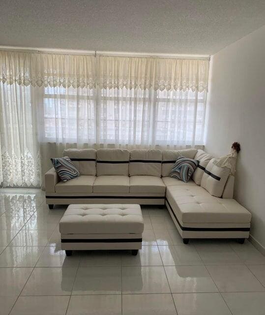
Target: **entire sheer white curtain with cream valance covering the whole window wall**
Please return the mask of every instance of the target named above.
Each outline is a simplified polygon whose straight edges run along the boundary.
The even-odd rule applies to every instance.
[[[203,144],[208,61],[0,52],[0,183],[38,187],[69,147]]]

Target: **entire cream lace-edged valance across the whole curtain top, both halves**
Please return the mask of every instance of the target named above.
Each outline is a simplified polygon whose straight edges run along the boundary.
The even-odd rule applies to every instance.
[[[208,67],[207,60],[0,51],[0,81],[24,86],[202,92]]]

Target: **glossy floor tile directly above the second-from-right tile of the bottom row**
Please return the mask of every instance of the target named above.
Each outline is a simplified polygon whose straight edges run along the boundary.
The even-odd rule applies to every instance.
[[[218,292],[205,266],[165,266],[171,292]]]

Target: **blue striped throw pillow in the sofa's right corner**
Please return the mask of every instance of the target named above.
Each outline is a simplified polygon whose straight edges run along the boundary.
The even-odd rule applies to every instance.
[[[174,164],[169,176],[175,177],[187,183],[193,172],[196,170],[198,164],[199,161],[197,161],[196,159],[180,156],[179,158],[177,158],[177,161]]]

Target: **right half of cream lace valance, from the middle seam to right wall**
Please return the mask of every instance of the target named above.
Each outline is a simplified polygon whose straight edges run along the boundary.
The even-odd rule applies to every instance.
[[[97,65],[101,88],[207,90],[207,60],[100,56]]]

